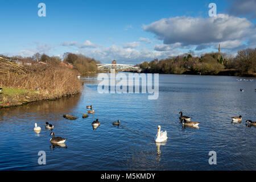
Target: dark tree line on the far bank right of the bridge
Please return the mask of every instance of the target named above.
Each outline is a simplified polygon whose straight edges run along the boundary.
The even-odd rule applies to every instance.
[[[184,72],[201,72],[217,75],[221,71],[236,69],[240,73],[256,73],[256,49],[246,48],[238,51],[236,57],[218,52],[195,56],[193,51],[166,59],[154,59],[139,64],[143,72],[182,74]]]

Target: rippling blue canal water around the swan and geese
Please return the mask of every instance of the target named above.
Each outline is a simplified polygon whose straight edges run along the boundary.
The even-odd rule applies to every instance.
[[[81,78],[79,96],[0,110],[0,170],[255,170],[256,127],[245,125],[256,121],[252,79],[159,75],[159,97],[148,100],[148,94],[100,94],[97,75]],[[95,112],[82,119],[86,105]],[[179,111],[199,128],[183,128]],[[242,123],[232,123],[239,115]],[[95,119],[101,125],[93,130]],[[117,119],[119,127],[112,125]],[[67,138],[65,147],[50,143],[45,122]],[[158,125],[167,131],[166,143],[154,142]],[[39,151],[46,152],[46,165],[38,164]],[[208,162],[210,151],[216,165]]]

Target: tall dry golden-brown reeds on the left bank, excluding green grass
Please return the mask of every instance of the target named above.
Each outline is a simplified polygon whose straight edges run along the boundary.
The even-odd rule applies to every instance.
[[[80,92],[81,82],[77,72],[54,65],[23,67],[0,60],[0,86],[14,89],[35,90],[47,98],[59,98]]]

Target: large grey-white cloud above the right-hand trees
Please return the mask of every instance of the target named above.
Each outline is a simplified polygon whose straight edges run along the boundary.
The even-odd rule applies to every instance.
[[[236,43],[245,40],[255,30],[246,18],[217,14],[212,18],[192,18],[178,16],[163,18],[146,26],[145,31],[152,32],[164,44],[181,43],[181,46],[210,46],[224,42]]]

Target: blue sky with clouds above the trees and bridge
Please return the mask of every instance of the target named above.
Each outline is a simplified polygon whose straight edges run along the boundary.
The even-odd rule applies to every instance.
[[[46,17],[38,16],[42,2]],[[211,20],[208,5],[212,2],[217,5],[217,18]],[[74,52],[102,63],[116,59],[136,64],[190,49],[197,55],[217,51],[216,45],[221,43],[224,52],[235,54],[256,44],[256,6],[251,6],[256,2],[242,2],[246,6],[236,0],[1,0],[0,53],[26,57],[36,52],[55,56]]]

